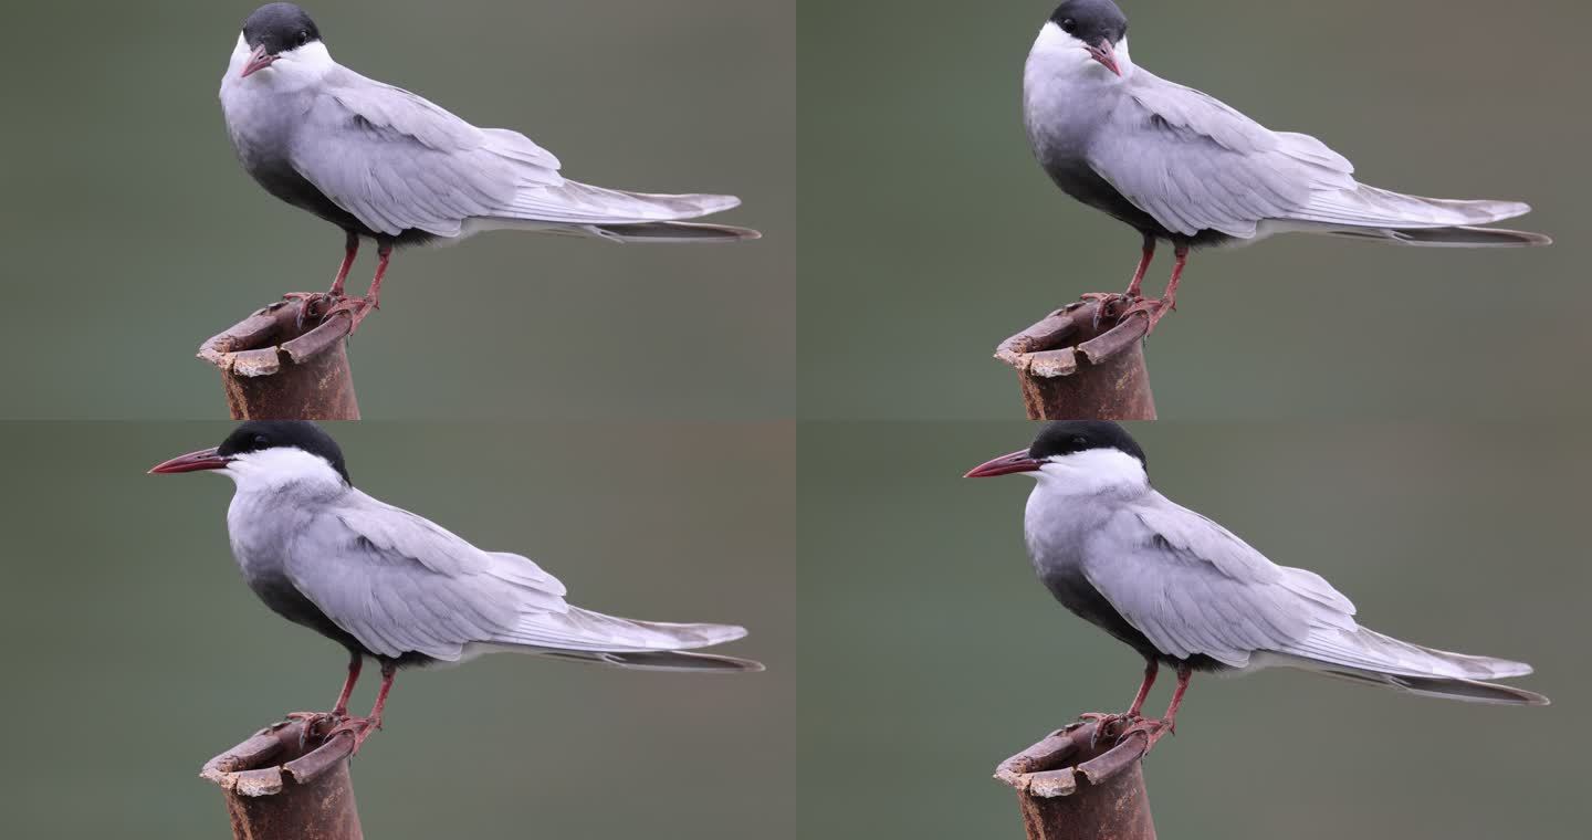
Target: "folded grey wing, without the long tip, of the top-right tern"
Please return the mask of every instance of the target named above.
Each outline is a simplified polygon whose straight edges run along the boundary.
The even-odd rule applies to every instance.
[[[1353,165],[1320,140],[1269,130],[1143,68],[1108,119],[1091,167],[1175,234],[1251,239],[1261,221],[1310,215],[1320,191],[1356,188]]]

